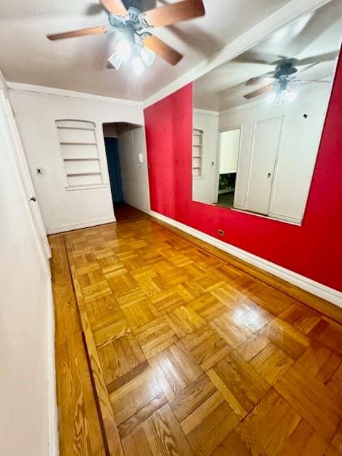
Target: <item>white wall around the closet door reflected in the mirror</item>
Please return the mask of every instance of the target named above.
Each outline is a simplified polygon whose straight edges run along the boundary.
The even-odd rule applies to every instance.
[[[311,178],[330,94],[330,85],[299,93],[293,103],[281,106],[251,103],[224,111],[219,130],[242,127],[234,207],[248,207],[249,164],[254,125],[261,120],[284,116],[284,130],[276,162],[269,206],[271,217],[300,223],[305,212]],[[304,114],[307,118],[304,118]]]

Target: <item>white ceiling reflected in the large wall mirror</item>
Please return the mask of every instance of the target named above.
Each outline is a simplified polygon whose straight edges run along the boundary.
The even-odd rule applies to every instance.
[[[341,38],[342,1],[333,0],[314,13],[282,28],[250,51],[197,79],[194,84],[194,106],[198,109],[220,111],[260,100],[267,94],[251,100],[243,96],[265,86],[264,83],[260,86],[246,86],[249,78],[275,69],[274,65],[255,63],[258,58],[271,63],[279,60],[279,56],[302,59],[331,51],[336,51],[337,57]],[[331,79],[335,63],[335,60],[331,60],[315,66],[300,66],[297,78]]]

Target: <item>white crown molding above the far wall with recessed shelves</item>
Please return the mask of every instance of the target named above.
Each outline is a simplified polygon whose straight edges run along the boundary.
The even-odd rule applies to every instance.
[[[100,103],[112,103],[115,105],[129,106],[130,108],[142,108],[141,101],[124,100],[123,98],[112,98],[103,95],[93,95],[92,93],[76,92],[61,88],[34,86],[33,84],[14,83],[7,81],[10,92],[22,93],[25,95],[55,96],[58,98],[73,98],[78,100],[88,100]]]

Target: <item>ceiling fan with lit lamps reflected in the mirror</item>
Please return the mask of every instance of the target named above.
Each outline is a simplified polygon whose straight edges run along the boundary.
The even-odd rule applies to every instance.
[[[322,80],[305,80],[305,79],[297,79],[298,68],[297,66],[306,66],[303,71],[318,65],[318,63],[326,62],[326,61],[333,61],[338,54],[338,51],[324,53],[318,56],[312,56],[309,58],[303,58],[298,60],[296,58],[287,58],[284,56],[281,57],[280,60],[274,61],[269,63],[269,61],[265,61],[262,59],[255,59],[251,63],[261,63],[266,65],[275,65],[276,68],[274,71],[269,71],[269,73],[264,73],[261,76],[257,76],[257,78],[251,78],[247,81],[246,86],[258,86],[259,84],[266,84],[266,86],[262,86],[257,90],[247,93],[244,95],[244,98],[249,100],[250,98],[257,97],[259,95],[263,95],[264,93],[271,92],[271,90],[275,89],[273,93],[271,93],[269,97],[269,101],[272,103],[274,102],[276,105],[281,105],[285,100],[292,101],[296,98],[296,92],[291,90],[295,86],[299,84],[307,84],[307,83],[324,83],[328,84],[330,81],[322,81]]]

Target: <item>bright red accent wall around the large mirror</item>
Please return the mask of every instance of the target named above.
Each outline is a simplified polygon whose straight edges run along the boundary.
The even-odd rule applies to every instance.
[[[192,201],[192,84],[145,125],[152,210],[342,291],[342,57],[301,227]]]

